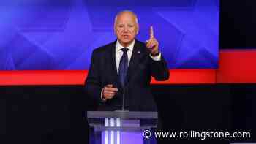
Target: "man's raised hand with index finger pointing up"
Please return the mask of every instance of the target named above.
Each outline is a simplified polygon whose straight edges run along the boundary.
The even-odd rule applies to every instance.
[[[155,54],[159,53],[159,43],[157,42],[157,39],[154,38],[154,30],[153,26],[150,26],[150,31],[149,31],[150,37],[146,41],[146,47],[150,51],[151,55],[154,56]]]

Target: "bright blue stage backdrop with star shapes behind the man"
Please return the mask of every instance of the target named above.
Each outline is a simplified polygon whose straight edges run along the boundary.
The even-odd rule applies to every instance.
[[[219,0],[2,0],[0,69],[89,69],[121,10],[138,14],[143,42],[154,26],[170,69],[217,68]]]

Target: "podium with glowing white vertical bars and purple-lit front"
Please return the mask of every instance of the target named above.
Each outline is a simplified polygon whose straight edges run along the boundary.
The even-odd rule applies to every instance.
[[[90,144],[155,144],[157,112],[88,111]]]

